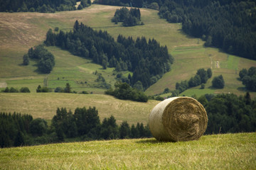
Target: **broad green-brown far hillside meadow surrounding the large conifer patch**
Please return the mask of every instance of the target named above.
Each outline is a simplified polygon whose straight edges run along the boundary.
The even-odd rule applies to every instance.
[[[197,94],[197,96],[201,96],[201,94],[206,93],[223,92],[244,94],[243,85],[241,81],[238,81],[238,73],[242,68],[248,69],[251,66],[256,66],[256,61],[245,60],[232,55],[228,56],[218,49],[203,47],[202,40],[183,34],[181,24],[167,23],[159,18],[158,11],[155,10],[141,9],[144,26],[124,28],[121,24],[115,25],[111,23],[110,19],[116,8],[120,7],[92,5],[82,11],[0,13],[0,82],[6,82],[7,86],[28,86],[35,91],[35,87],[38,84],[43,84],[45,79],[50,87],[65,86],[66,81],[68,81],[78,91],[87,90],[102,94],[104,91],[102,89],[95,89],[94,86],[88,84],[87,86],[80,84],[81,81],[88,79],[92,84],[95,77],[92,76],[91,72],[100,69],[100,66],[89,64],[89,61],[78,59],[78,57],[62,50],[56,50],[55,47],[50,47],[50,51],[56,57],[56,66],[51,74],[38,74],[35,72],[36,66],[33,62],[28,67],[21,65],[22,56],[27,52],[28,47],[43,42],[48,28],[59,27],[63,30],[70,30],[73,28],[75,20],[78,20],[92,28],[107,30],[114,38],[117,38],[119,34],[134,38],[145,36],[146,38],[155,38],[161,45],[167,45],[169,52],[175,58],[171,72],[164,74],[162,79],[147,89],[146,94],[148,95],[159,94],[166,87],[174,90],[176,82],[190,79],[199,68],[207,69],[209,67],[213,69],[213,77],[223,74],[226,83],[225,88],[221,90],[209,89],[211,86],[210,79],[206,84],[206,89],[199,90],[199,87],[196,87],[185,91],[184,95]],[[216,67],[216,62],[220,63],[220,67]],[[65,79],[57,81],[60,77],[65,77]],[[79,77],[81,78],[78,79]],[[114,83],[111,69],[105,73],[105,79],[110,84]],[[251,95],[253,97],[255,93]]]

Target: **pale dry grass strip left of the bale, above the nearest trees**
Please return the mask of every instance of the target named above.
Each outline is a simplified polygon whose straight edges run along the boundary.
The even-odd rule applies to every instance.
[[[4,94],[0,93],[0,111],[27,113],[33,118],[45,118],[50,120],[56,114],[57,108],[67,108],[75,111],[75,108],[95,106],[99,111],[100,119],[114,115],[117,123],[122,121],[132,124],[148,123],[149,113],[159,101],[147,103],[122,101],[112,96],[101,94]]]

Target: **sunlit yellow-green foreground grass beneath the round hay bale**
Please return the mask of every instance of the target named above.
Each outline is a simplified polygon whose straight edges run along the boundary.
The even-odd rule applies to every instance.
[[[75,142],[0,149],[0,169],[255,169],[256,133]]]

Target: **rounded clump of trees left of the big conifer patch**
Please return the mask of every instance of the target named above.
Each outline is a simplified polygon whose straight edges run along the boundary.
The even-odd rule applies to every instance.
[[[55,66],[54,55],[49,52],[43,45],[31,47],[28,53],[23,55],[23,64],[29,64],[29,58],[38,62],[38,71],[42,73],[50,73]]]

